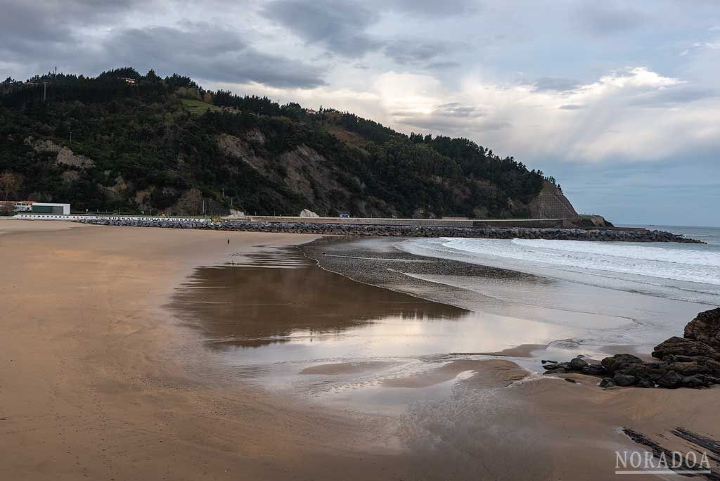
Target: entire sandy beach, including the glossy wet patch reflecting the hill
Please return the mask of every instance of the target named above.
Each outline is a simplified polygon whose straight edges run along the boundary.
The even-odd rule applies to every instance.
[[[1,479],[606,480],[642,450],[621,428],[720,436],[716,388],[528,377],[532,339],[418,354],[408,326],[469,311],[320,269],[308,235],[0,233]]]

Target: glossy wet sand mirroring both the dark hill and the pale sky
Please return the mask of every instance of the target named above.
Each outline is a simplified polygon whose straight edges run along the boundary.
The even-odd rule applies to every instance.
[[[572,335],[356,282],[294,248],[233,264],[197,269],[174,296],[176,314],[239,379],[336,407],[397,414],[457,383],[505,386],[526,370],[488,357],[528,359]]]

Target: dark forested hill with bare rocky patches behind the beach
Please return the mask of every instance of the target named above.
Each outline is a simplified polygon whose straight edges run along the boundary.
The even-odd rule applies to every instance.
[[[174,214],[528,217],[548,186],[467,139],[132,68],[0,84],[0,175],[0,200]]]

